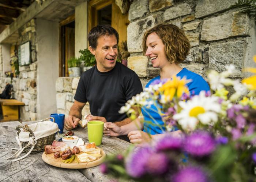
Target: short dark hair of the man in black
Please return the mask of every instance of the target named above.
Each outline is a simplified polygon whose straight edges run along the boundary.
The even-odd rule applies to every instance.
[[[97,25],[96,27],[93,27],[88,34],[89,46],[91,46],[93,49],[96,49],[98,45],[98,38],[102,35],[116,36],[118,44],[119,35],[116,29],[110,27],[109,25]]]

